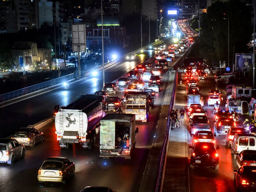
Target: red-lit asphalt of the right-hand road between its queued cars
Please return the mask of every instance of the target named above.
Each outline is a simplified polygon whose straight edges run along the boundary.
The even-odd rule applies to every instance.
[[[184,63],[186,63],[184,61]],[[215,115],[213,114],[213,106],[207,106],[207,96],[209,95],[209,91],[211,89],[215,89],[215,83],[214,83],[214,74],[207,76],[207,84],[205,83],[199,83],[200,86],[200,93],[202,94],[204,98],[204,109],[207,111],[207,117],[210,120],[210,125],[212,132],[214,131],[214,120]],[[183,76],[184,79],[184,76]],[[197,77],[194,76],[194,79],[197,80]],[[176,102],[183,102],[187,99],[187,86],[182,84],[182,86],[178,87],[178,93],[180,93],[180,96],[177,97]],[[177,94],[178,95],[178,94]],[[226,96],[223,94],[223,101],[226,101]],[[221,102],[220,110],[225,110],[225,104],[224,102]],[[192,145],[192,138],[190,136],[190,130],[189,130],[189,121],[188,121],[188,113],[186,113],[187,116],[187,151],[188,151],[188,162],[190,161],[190,151],[191,149],[188,148],[189,145]],[[240,122],[243,122],[245,117],[240,116]],[[242,127],[241,124],[237,125],[238,127]],[[175,129],[173,130],[175,131]],[[188,178],[189,181],[189,191],[190,192],[204,192],[204,191],[212,191],[212,192],[223,192],[223,191],[235,191],[234,186],[234,169],[237,169],[236,160],[233,159],[230,153],[230,148],[228,148],[225,145],[225,135],[221,135],[218,137],[215,137],[217,146],[220,147],[220,149],[217,150],[220,162],[219,162],[219,170],[215,171],[212,168],[204,168],[204,167],[196,167],[195,169],[188,168]]]

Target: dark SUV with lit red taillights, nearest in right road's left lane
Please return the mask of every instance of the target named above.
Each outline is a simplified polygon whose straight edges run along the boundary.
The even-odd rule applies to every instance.
[[[189,167],[194,169],[195,166],[212,167],[219,170],[219,155],[214,143],[197,142],[192,148]]]

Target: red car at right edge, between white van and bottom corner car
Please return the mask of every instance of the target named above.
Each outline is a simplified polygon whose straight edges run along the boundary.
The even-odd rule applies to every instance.
[[[243,150],[237,154],[237,166],[256,166],[256,151]]]

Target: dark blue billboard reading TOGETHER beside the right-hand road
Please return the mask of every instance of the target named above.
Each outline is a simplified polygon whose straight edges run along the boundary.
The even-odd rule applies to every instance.
[[[236,53],[236,71],[250,71],[252,54]]]

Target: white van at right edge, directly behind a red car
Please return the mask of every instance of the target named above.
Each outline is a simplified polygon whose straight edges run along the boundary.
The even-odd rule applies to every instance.
[[[256,137],[249,133],[236,133],[231,143],[231,154],[234,159],[243,150],[256,150]]]

